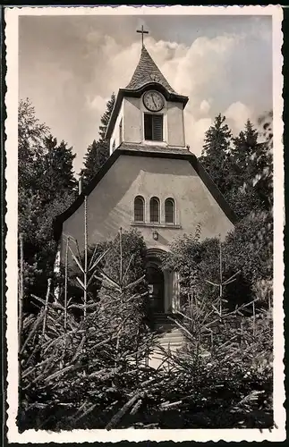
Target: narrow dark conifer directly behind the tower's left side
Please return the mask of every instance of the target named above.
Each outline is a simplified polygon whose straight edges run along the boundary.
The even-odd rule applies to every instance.
[[[83,179],[84,186],[91,181],[91,179],[98,173],[99,169],[105,164],[109,156],[109,140],[106,139],[106,128],[115,105],[115,94],[113,93],[111,98],[106,104],[106,112],[102,115],[99,126],[98,141],[93,140],[89,145],[87,153],[84,157],[84,168],[81,169],[81,177]]]

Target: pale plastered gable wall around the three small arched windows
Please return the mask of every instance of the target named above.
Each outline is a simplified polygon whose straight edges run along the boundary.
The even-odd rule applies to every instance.
[[[146,200],[146,221],[149,222],[149,198],[161,202],[161,222],[165,220],[164,204],[168,197],[176,203],[176,223],[181,228],[157,228],[158,240],[153,240],[152,226],[133,226],[133,199],[141,195]],[[83,249],[84,206],[65,222],[63,232],[77,239]],[[195,232],[201,225],[201,238],[221,236],[234,228],[217,205],[190,162],[167,158],[119,156],[88,197],[89,245],[115,237],[123,231],[137,228],[148,248],[167,250],[170,242],[183,233]],[[64,250],[62,250],[64,252]]]

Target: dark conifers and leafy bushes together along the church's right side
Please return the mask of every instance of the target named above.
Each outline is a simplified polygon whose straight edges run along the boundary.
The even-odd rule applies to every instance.
[[[234,231],[222,242],[223,281],[236,274],[224,290],[227,306],[259,299],[268,308],[273,278],[273,160],[272,114],[259,119],[261,131],[248,120],[233,137],[218,114],[205,134],[200,161],[237,216]],[[261,137],[262,142],[259,143]],[[177,268],[183,281],[183,299],[193,289],[216,299],[220,271],[220,241],[196,234],[174,240],[166,256],[168,268]],[[209,283],[211,282],[211,283]]]

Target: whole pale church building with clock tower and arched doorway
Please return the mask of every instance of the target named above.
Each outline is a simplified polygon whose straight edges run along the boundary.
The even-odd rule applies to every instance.
[[[178,274],[163,271],[160,263],[170,243],[197,227],[201,240],[225,238],[234,228],[234,212],[186,147],[188,100],[174,91],[142,44],[140,61],[128,85],[118,90],[107,126],[110,156],[55,221],[62,260],[65,236],[84,247],[85,196],[89,245],[115,238],[120,228],[138,229],[148,247],[149,302],[156,316],[174,314],[180,306]]]

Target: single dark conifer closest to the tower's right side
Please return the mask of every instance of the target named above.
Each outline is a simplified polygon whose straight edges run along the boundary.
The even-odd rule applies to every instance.
[[[208,171],[217,188],[225,194],[230,189],[232,132],[225,123],[225,116],[218,114],[205,134],[200,162]]]

